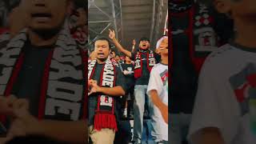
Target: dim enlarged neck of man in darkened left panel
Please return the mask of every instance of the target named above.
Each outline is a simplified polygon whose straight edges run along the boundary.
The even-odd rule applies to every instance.
[[[50,37],[50,38],[43,38],[38,33],[34,32],[33,30],[28,31],[28,35],[30,38],[30,42],[34,46],[50,46],[54,45],[54,43],[57,41],[58,34]]]

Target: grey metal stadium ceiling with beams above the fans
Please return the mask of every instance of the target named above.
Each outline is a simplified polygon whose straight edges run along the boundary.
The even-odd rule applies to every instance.
[[[168,0],[89,0],[89,44],[117,31],[122,46],[131,50],[133,39],[150,38],[152,49],[164,31]],[[90,45],[90,49],[93,47]]]

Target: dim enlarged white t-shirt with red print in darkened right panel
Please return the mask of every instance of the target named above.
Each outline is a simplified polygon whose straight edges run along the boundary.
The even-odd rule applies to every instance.
[[[202,66],[188,139],[217,127],[226,144],[256,143],[256,48],[214,51]]]

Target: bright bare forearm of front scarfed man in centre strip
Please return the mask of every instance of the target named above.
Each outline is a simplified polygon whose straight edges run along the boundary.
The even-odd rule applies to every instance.
[[[106,95],[110,95],[110,96],[122,96],[126,94],[125,90],[123,90],[121,86],[99,87],[98,92]]]

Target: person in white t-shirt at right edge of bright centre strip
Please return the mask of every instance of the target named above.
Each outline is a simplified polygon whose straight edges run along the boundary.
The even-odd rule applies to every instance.
[[[162,61],[150,72],[147,94],[155,106],[153,117],[161,128],[162,142],[157,143],[168,143],[168,37],[160,38],[157,51]]]

